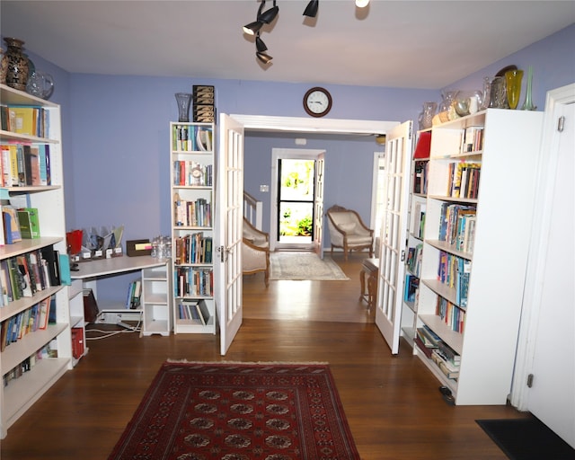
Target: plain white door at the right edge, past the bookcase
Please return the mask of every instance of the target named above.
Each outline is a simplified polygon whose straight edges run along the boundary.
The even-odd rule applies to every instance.
[[[575,272],[571,257],[575,253],[573,234],[575,217],[572,199],[573,139],[575,138],[575,85],[571,86],[571,103],[557,104],[553,111],[553,128],[563,119],[544,151],[549,167],[546,186],[541,187],[544,204],[539,254],[535,254],[537,282],[531,285],[533,302],[538,305],[531,375],[527,390],[527,409],[575,447]],[[565,206],[565,199],[569,197]],[[567,237],[565,237],[567,236]],[[527,294],[529,295],[529,294]],[[523,380],[525,382],[525,380]]]

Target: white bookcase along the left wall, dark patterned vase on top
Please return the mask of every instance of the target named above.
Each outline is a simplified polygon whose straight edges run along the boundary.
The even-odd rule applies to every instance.
[[[38,208],[40,238],[24,239],[19,243],[0,247],[0,260],[36,252],[53,247],[66,254],[66,221],[64,210],[64,189],[62,170],[62,145],[59,105],[14,90],[0,84],[2,105],[42,107],[48,114],[49,130],[44,137],[17,134],[0,130],[0,140],[6,144],[48,144],[49,173],[51,185],[6,187],[1,190],[3,199],[23,202],[28,207]],[[51,286],[39,290],[33,296],[22,296],[0,307],[0,322],[6,326],[18,316],[28,314],[34,305],[48,297],[56,299],[56,323],[49,323],[46,329],[22,334],[22,338],[8,345],[1,352],[0,367],[5,384],[0,386],[1,416],[0,428],[4,438],[15,420],[27,411],[57,379],[73,367],[71,327],[74,319],[70,316],[66,286]],[[40,350],[48,347],[57,350],[57,358],[42,357]],[[54,355],[55,353],[52,353]],[[42,358],[40,358],[42,357]],[[25,372],[14,369],[26,369]],[[8,376],[18,376],[10,378]]]

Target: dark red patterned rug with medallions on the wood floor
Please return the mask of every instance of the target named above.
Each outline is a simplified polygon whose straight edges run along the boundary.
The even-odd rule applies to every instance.
[[[109,460],[353,460],[330,367],[164,363]]]

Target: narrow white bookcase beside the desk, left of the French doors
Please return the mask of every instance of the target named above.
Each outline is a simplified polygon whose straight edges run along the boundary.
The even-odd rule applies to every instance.
[[[214,124],[170,123],[173,332],[216,333]]]

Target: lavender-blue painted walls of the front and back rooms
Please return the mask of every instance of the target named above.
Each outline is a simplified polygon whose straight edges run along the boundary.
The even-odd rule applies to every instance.
[[[502,66],[531,65],[534,101],[543,110],[548,90],[575,81],[574,45],[571,25],[449,87],[480,89],[482,77]],[[301,101],[308,84],[70,75],[30,56],[57,82],[51,101],[62,105],[68,229],[124,224],[126,239],[169,234],[168,123],[177,116],[176,92],[191,92],[193,84],[213,84],[218,112],[305,117]],[[326,87],[333,96],[334,119],[417,119],[422,102],[440,100],[439,90]],[[273,147],[296,148],[288,137],[247,133],[245,188],[268,203],[269,194],[261,196],[258,190],[260,183],[270,183]],[[369,221],[373,152],[380,147],[365,140],[325,137],[310,139],[305,148],[327,151],[326,206],[353,206]],[[269,217],[264,222],[267,225]]]

